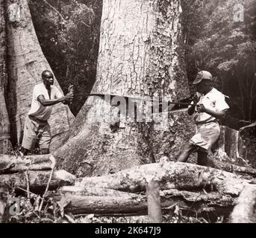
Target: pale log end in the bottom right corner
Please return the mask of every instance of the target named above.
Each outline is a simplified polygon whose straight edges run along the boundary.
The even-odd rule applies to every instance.
[[[231,213],[230,223],[256,223],[256,185],[246,185]]]

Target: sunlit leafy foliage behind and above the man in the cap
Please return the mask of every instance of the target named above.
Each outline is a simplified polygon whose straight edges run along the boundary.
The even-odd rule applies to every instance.
[[[241,15],[237,6],[243,7],[239,12]],[[203,18],[203,21],[200,20],[203,25],[194,32],[196,42],[191,42],[187,51],[189,78],[193,80],[193,72],[199,70],[212,72],[216,87],[231,97],[228,103],[232,117],[255,120],[256,2],[207,0],[200,10],[194,13],[199,19]],[[241,21],[238,22],[235,17]],[[197,25],[200,22],[193,23]],[[225,123],[232,127],[239,126],[238,123],[231,123],[231,118]]]

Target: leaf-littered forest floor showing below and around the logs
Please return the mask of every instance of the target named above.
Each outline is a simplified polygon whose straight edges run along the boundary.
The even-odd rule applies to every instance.
[[[256,151],[256,138],[252,136],[249,140],[249,151]],[[11,154],[17,153],[11,152]],[[33,154],[38,154],[39,151],[33,151]],[[214,156],[214,155],[211,155]],[[249,166],[256,168],[255,156],[249,157]],[[194,159],[190,160],[195,163]],[[232,162],[232,161],[229,161]],[[237,165],[244,166],[244,161],[236,161]],[[25,193],[16,193],[13,190],[11,197],[19,199],[19,213],[15,216],[10,216],[7,222],[15,223],[147,223],[148,216],[97,216],[96,214],[89,215],[75,215],[64,214],[60,206],[53,202],[51,199],[45,202],[41,212],[38,212],[40,195],[34,194],[31,198],[27,198]],[[227,222],[228,217],[216,216],[209,217],[207,214],[204,216],[183,214],[179,208],[172,210],[172,213],[163,215],[163,223],[222,223]]]

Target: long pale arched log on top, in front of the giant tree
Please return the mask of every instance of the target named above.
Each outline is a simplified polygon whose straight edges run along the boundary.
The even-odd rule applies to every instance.
[[[146,180],[151,177],[160,183],[161,189],[195,190],[202,187],[219,193],[239,195],[249,181],[240,176],[196,164],[165,162],[146,164],[122,170],[107,176],[76,179],[78,187],[105,187],[125,192],[146,190]]]

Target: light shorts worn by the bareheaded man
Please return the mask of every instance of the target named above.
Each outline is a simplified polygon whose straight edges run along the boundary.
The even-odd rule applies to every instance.
[[[38,120],[28,116],[25,119],[22,147],[35,149],[39,144],[40,149],[49,149],[51,143],[51,130],[47,120]]]

